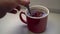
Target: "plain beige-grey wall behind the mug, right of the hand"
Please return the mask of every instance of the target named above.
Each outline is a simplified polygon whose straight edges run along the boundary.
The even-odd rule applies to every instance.
[[[60,9],[60,0],[31,0],[31,5],[40,4],[52,9]]]

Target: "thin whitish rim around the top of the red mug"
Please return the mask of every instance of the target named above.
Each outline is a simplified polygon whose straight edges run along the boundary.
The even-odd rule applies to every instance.
[[[46,10],[47,14],[45,16],[43,16],[43,17],[32,17],[32,16],[29,16],[27,14],[28,9],[26,9],[25,10],[26,11],[25,14],[26,14],[27,17],[30,17],[30,18],[33,18],[33,19],[41,19],[41,18],[44,18],[44,17],[49,15],[49,9],[47,7],[45,7],[45,6],[42,6],[42,5],[33,5],[33,6],[30,6],[30,8],[32,8],[32,7],[42,7],[42,8],[44,8]]]

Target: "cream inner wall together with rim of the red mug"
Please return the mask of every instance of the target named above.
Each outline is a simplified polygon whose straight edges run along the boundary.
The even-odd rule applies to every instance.
[[[46,13],[46,15],[41,16],[41,17],[32,17],[32,16],[30,16],[30,14],[28,14],[29,12],[28,12],[28,10],[26,9],[26,11],[27,11],[27,12],[26,12],[26,16],[28,16],[28,17],[30,17],[30,18],[40,19],[40,18],[44,18],[44,17],[48,16],[48,14],[49,14],[49,10],[48,10],[46,7],[41,6],[41,5],[31,6],[30,9],[42,9],[42,10],[44,10],[43,12]]]

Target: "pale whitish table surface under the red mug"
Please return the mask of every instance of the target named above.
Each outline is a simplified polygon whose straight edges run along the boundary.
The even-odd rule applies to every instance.
[[[23,16],[25,19],[25,16]],[[29,32],[27,25],[21,22],[19,12],[0,19],[0,34],[34,34]],[[47,29],[41,34],[60,34],[60,14],[50,13]]]

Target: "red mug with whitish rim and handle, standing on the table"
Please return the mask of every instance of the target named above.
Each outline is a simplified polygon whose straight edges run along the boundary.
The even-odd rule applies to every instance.
[[[31,6],[30,9],[43,9],[46,14],[42,17],[32,17],[28,14],[28,10],[26,9],[25,12],[21,12],[20,13],[20,19],[21,21],[23,21],[24,23],[27,24],[28,26],[28,29],[31,31],[31,32],[34,32],[34,33],[41,33],[41,32],[44,32],[45,29],[46,29],[46,25],[47,25],[47,18],[48,18],[48,14],[49,14],[49,10],[44,7],[44,6],[41,6],[41,5],[34,5],[34,6]],[[24,14],[26,16],[26,20],[27,21],[24,21],[22,19],[22,14]]]

